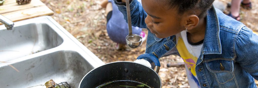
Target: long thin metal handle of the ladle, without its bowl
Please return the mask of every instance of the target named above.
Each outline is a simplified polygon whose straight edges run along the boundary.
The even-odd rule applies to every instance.
[[[126,4],[126,12],[127,12],[127,21],[128,21],[128,29],[129,29],[129,34],[133,34],[132,32],[132,22],[131,22],[131,12],[130,12],[130,4],[129,4],[129,0],[125,0],[125,4]]]

